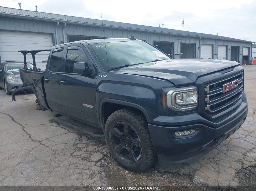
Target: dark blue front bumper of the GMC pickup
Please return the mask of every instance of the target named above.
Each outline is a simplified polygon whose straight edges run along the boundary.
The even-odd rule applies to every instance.
[[[218,123],[213,123],[193,113],[185,117],[171,116],[171,119],[167,116],[160,117],[161,121],[157,124],[163,123],[163,119],[171,120],[168,126],[148,124],[159,163],[164,166],[179,167],[182,164],[191,164],[210,152],[244,123],[248,113],[245,94],[238,104],[234,113]],[[187,138],[177,138],[173,135],[174,132],[190,129],[198,129],[199,133]]]

